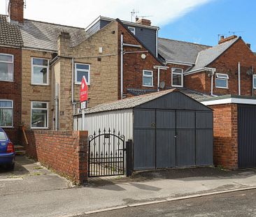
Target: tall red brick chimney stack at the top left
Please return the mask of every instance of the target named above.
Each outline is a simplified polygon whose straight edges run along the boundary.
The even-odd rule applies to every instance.
[[[24,0],[9,0],[8,13],[10,20],[24,22]]]

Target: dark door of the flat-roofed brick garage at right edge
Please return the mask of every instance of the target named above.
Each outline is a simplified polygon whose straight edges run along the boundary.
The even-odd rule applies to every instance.
[[[256,106],[238,105],[239,167],[256,167]]]

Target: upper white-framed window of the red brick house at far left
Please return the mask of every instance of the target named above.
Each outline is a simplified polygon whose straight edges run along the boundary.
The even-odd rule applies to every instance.
[[[13,55],[0,54],[0,81],[13,82]]]

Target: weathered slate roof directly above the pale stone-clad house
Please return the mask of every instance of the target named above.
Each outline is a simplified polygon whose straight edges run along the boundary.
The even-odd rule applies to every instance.
[[[88,36],[85,29],[68,27],[61,24],[52,24],[35,20],[24,20],[19,24],[24,47],[38,48],[57,52],[57,37],[64,31],[71,36],[71,47],[85,40]]]

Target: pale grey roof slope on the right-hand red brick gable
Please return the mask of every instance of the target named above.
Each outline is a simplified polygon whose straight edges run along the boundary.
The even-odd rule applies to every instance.
[[[215,47],[211,47],[206,50],[202,50],[198,54],[195,66],[193,68],[191,68],[190,70],[197,70],[199,68],[204,68],[204,67],[208,66],[208,64],[210,64],[215,59],[217,59],[220,56],[220,54],[225,52],[229,47],[231,47],[234,43],[236,43],[236,41],[239,40],[240,38],[241,37],[234,38],[225,43],[217,45]]]

